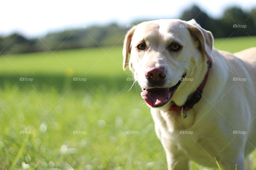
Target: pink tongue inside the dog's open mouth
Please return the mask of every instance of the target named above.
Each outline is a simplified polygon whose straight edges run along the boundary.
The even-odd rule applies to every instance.
[[[171,93],[169,88],[151,88],[146,89],[141,92],[141,97],[149,104],[151,107],[162,104],[168,101]]]

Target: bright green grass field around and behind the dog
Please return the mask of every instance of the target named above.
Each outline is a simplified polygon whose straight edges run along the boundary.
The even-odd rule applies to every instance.
[[[256,37],[214,46],[238,52]],[[167,169],[140,90],[127,92],[122,47],[12,54],[0,63],[0,169]]]

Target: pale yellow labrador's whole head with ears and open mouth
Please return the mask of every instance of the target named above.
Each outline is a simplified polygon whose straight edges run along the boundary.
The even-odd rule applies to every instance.
[[[213,37],[194,20],[143,22],[130,29],[123,48],[123,68],[129,67],[151,107],[169,103],[182,78],[210,57]],[[130,53],[130,61],[128,54]]]

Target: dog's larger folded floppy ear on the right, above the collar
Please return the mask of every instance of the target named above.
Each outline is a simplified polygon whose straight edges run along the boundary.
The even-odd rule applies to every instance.
[[[203,29],[194,19],[188,21],[191,27],[188,29],[191,31],[192,36],[199,39],[199,49],[206,55],[207,58],[214,62],[211,52],[213,49],[213,35],[210,31]]]

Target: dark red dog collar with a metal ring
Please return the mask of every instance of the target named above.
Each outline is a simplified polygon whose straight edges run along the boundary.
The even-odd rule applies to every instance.
[[[202,92],[203,92],[203,88],[205,87],[205,83],[209,74],[209,69],[211,67],[211,61],[208,59],[207,60],[207,65],[208,65],[208,70],[205,74],[205,77],[203,78],[202,83],[199,85],[199,87],[197,88],[197,90],[193,93],[193,95],[191,96],[191,98],[189,100],[186,101],[186,103],[183,106],[177,106],[175,103],[170,107],[170,110],[172,111],[181,111],[181,116],[183,118],[187,117],[187,111],[189,109],[191,109],[194,104],[196,104],[202,96]],[[185,116],[183,116],[183,110],[186,111]]]

